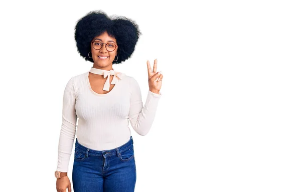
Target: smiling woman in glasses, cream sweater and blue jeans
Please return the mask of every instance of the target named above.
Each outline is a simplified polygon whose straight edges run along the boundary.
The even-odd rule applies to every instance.
[[[57,191],[71,190],[67,172],[75,133],[75,192],[134,191],[136,167],[128,122],[138,134],[147,134],[161,98],[163,75],[157,72],[157,60],[153,71],[146,62],[149,90],[143,107],[137,81],[112,65],[132,55],[140,34],[132,20],[109,18],[101,11],[89,12],[77,22],[78,52],[93,67],[72,77],[64,91]]]

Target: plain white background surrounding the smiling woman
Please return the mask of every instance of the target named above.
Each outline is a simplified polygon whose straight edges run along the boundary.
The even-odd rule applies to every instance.
[[[131,129],[135,191],[301,191],[298,1],[2,2],[1,191],[56,191],[64,88],[92,66],[74,27],[93,10],[139,25],[113,68],[143,102],[146,60],[164,75],[152,129]]]

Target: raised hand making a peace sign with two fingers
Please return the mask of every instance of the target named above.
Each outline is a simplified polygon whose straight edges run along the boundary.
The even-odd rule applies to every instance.
[[[161,74],[161,71],[157,73],[157,59],[155,59],[154,62],[153,72],[152,72],[152,68],[150,67],[149,61],[147,61],[146,64],[147,64],[147,72],[148,72],[149,91],[159,94],[162,86],[163,75]]]

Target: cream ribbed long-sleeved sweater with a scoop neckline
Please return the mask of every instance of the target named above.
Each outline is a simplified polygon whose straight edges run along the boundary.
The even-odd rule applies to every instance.
[[[162,96],[148,90],[143,107],[133,77],[125,75],[110,92],[98,94],[92,90],[88,75],[85,72],[72,77],[65,87],[57,164],[61,172],[68,171],[75,133],[78,142],[90,149],[116,148],[129,140],[128,121],[138,134],[147,134]]]

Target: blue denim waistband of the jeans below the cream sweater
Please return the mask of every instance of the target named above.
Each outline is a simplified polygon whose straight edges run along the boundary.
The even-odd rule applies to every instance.
[[[98,151],[98,150],[93,150],[93,149],[89,149],[81,144],[79,144],[79,142],[75,141],[75,149],[79,150],[87,155],[91,155],[91,156],[112,156],[112,155],[116,155],[119,156],[119,153],[127,150],[129,147],[131,147],[133,144],[133,138],[132,136],[130,136],[129,140],[124,143],[123,145],[114,148],[114,149],[109,149],[109,150],[102,150],[102,151]]]

